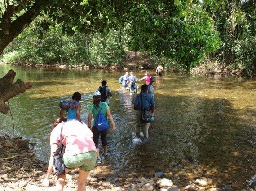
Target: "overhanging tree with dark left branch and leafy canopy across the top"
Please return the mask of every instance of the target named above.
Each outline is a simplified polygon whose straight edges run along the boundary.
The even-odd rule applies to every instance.
[[[104,37],[110,28],[131,25],[132,49],[173,58],[190,71],[221,44],[200,4],[199,0],[4,0],[0,53],[40,14],[38,25],[44,30],[57,22],[67,35],[99,32]]]

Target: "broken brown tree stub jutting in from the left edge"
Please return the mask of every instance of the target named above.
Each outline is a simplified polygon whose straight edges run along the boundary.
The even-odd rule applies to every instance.
[[[0,79],[0,112],[3,114],[7,114],[9,111],[9,107],[5,102],[32,87],[31,82],[25,84],[21,79],[18,79],[15,84],[13,84],[15,76],[16,73],[13,70],[9,70],[9,72]]]

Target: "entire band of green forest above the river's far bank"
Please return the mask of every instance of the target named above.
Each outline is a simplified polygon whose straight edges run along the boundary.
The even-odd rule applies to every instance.
[[[167,70],[254,76],[255,10],[255,0],[2,0],[0,62],[122,69],[134,51]]]

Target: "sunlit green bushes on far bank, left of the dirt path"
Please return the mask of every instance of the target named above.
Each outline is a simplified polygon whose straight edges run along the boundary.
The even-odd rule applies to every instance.
[[[67,36],[62,35],[57,26],[45,32],[38,27],[38,22],[34,22],[6,48],[1,60],[13,64],[84,64],[96,67],[122,62],[124,48],[118,41],[117,31],[111,30],[106,38],[97,33]]]

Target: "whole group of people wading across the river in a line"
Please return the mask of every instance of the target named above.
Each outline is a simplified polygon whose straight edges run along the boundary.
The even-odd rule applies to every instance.
[[[157,69],[156,74],[158,75]],[[129,93],[137,94],[135,96],[133,106],[136,110],[136,135],[138,138],[147,139],[149,137],[150,122],[154,121],[155,101],[154,101],[154,78],[152,78],[149,72],[145,72],[145,76],[141,79],[137,79],[134,73],[131,71],[126,72],[124,76],[121,76],[121,82],[119,83],[125,89],[129,90]],[[141,92],[138,93],[139,86],[137,81],[146,80],[146,83],[141,86]],[[86,178],[91,170],[93,170],[95,164],[101,164],[99,139],[101,139],[102,147],[104,149],[104,156],[108,155],[108,142],[107,131],[108,128],[100,129],[99,125],[104,123],[104,119],[107,122],[107,118],[112,124],[112,129],[115,131],[116,126],[114,119],[110,113],[110,101],[109,97],[112,96],[111,89],[106,86],[107,81],[102,81],[102,86],[98,87],[93,92],[93,102],[88,108],[88,126],[81,120],[80,109],[81,93],[75,92],[72,95],[72,99],[68,101],[60,102],[60,118],[56,119],[53,123],[53,130],[50,135],[51,156],[49,159],[49,166],[45,178],[42,180],[42,186],[48,187],[50,175],[53,172],[53,153],[57,149],[57,145],[61,142],[65,146],[65,153],[63,155],[63,162],[65,165],[65,174],[57,175],[56,190],[62,191],[65,186],[66,173],[79,169],[79,176],[77,180],[77,190],[86,190]],[[64,116],[67,111],[67,116]],[[147,113],[147,114],[146,114]],[[103,116],[102,123],[98,122]],[[146,119],[144,119],[146,116]],[[92,119],[93,124],[92,124]],[[91,127],[92,124],[92,127]],[[140,132],[143,133],[141,137]],[[60,136],[61,135],[61,136]]]

